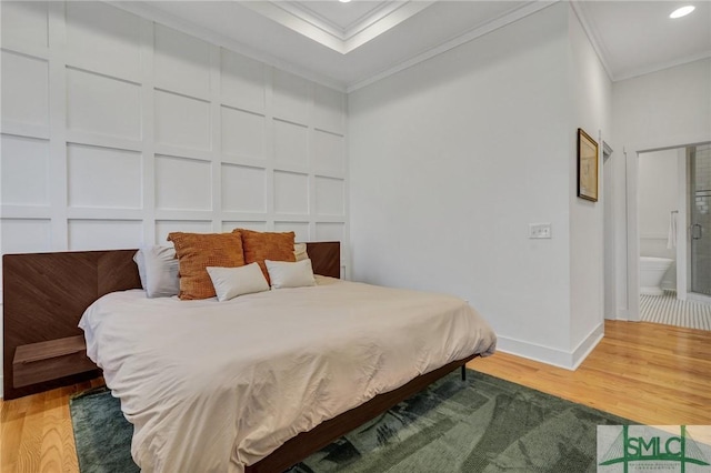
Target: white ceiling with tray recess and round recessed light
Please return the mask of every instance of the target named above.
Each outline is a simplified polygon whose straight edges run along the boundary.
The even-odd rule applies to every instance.
[[[554,1],[112,3],[321,83],[354,90]],[[697,10],[669,19],[682,4]],[[587,0],[572,6],[612,80],[711,57],[708,0]]]

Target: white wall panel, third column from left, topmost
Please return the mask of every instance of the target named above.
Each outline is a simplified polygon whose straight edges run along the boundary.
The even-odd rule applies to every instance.
[[[210,94],[210,44],[156,24],[156,85],[207,98]]]

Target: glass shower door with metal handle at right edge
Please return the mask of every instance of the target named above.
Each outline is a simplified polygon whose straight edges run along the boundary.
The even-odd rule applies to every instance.
[[[711,144],[690,150],[691,292],[711,295]]]

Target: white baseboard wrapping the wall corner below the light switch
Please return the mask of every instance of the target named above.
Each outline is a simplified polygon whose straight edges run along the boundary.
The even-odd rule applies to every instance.
[[[497,350],[574,371],[600,343],[603,329],[604,325],[600,323],[571,352],[505,336],[498,338]]]

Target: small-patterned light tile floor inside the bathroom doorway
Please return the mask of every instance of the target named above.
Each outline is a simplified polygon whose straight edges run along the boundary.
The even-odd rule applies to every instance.
[[[711,304],[680,301],[675,291],[640,295],[640,320],[688,329],[711,330]]]

